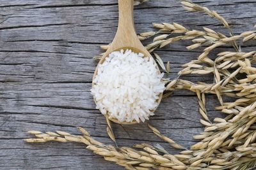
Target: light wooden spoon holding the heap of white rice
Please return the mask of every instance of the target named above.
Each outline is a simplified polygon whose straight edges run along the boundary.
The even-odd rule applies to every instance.
[[[99,61],[99,64],[102,64],[106,57],[108,57],[109,53],[114,51],[120,51],[121,49],[130,49],[132,52],[143,53],[145,57],[152,57],[147,49],[141,44],[140,39],[136,34],[134,29],[134,21],[133,21],[133,3],[134,0],[118,0],[118,9],[119,9],[119,18],[118,18],[118,28],[116,31],[115,38],[113,42],[109,46],[108,50],[104,53],[102,58]],[[154,60],[155,62],[155,60]],[[98,64],[98,66],[99,66]],[[97,69],[95,69],[95,73],[93,74],[93,79],[97,75]],[[161,74],[159,67],[157,66],[157,71]],[[159,99],[157,99],[157,106],[161,102],[163,94],[159,94]],[[152,110],[154,112],[155,110]],[[109,118],[108,113],[105,115]],[[135,120],[132,122],[120,122],[116,118],[109,118],[109,120],[116,122],[118,124],[136,124]]]

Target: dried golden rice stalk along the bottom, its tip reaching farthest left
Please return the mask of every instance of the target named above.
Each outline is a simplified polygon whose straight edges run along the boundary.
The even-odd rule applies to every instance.
[[[36,138],[24,139],[28,143],[45,143],[48,141],[57,141],[57,142],[77,142],[84,143],[87,145],[88,150],[92,150],[97,155],[101,155],[104,159],[120,166],[124,166],[126,169],[143,169],[143,167],[157,167],[163,165],[163,167],[177,167],[180,169],[186,169],[186,165],[180,162],[177,158],[170,154],[159,155],[157,150],[154,147],[141,144],[140,148],[143,148],[143,151],[134,150],[132,148],[122,147],[115,148],[111,145],[104,145],[99,141],[90,137],[90,134],[83,128],[78,127],[83,136],[74,136],[68,134],[67,132],[56,131],[60,136],[53,134],[46,134],[40,131],[29,131],[30,134],[35,135]],[[38,135],[41,135],[38,137]],[[176,169],[177,169],[176,168]]]

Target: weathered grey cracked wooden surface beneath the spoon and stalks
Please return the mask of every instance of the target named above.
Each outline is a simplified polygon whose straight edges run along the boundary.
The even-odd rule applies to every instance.
[[[99,45],[110,43],[117,25],[116,0],[0,0],[0,167],[1,169],[122,169],[77,143],[31,145],[26,131],[67,131],[79,134],[85,127],[95,139],[111,143],[106,122],[95,110],[90,95],[92,57],[102,51]],[[254,0],[195,0],[217,10],[239,34],[253,29],[256,17]],[[176,0],[151,0],[134,10],[137,32],[150,31],[152,22],[178,22],[190,29],[207,26],[227,31],[202,13],[188,13]],[[147,43],[147,42],[144,42]],[[167,46],[157,53],[164,62],[172,62],[170,78],[180,66],[199,54],[184,47],[189,41]],[[253,49],[249,45],[247,49]],[[228,50],[225,48],[225,50]],[[192,81],[211,81],[209,76],[189,75]],[[207,96],[209,116],[216,97]],[[192,136],[202,132],[196,97],[177,91],[164,99],[150,124],[164,135],[189,147]],[[168,147],[148,130],[146,124],[113,125],[117,143],[159,143]],[[177,150],[171,150],[175,153]]]

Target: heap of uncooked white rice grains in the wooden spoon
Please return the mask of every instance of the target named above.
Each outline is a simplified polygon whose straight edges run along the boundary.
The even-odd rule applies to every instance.
[[[154,115],[164,83],[153,60],[131,50],[110,53],[93,80],[96,108],[120,122],[144,122]]]

